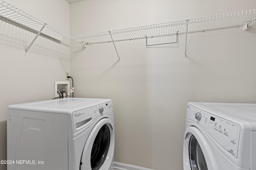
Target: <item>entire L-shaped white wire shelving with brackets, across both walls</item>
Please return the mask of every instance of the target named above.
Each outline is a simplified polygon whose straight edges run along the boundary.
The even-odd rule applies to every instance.
[[[68,35],[3,0],[0,0],[0,19],[37,33],[32,43],[30,43],[25,50],[26,55],[38,35],[47,37],[68,47],[70,46],[70,40],[72,40],[84,47],[88,44],[112,42],[116,49],[116,41],[160,37],[175,35],[177,33],[186,33],[187,39],[187,33],[238,27],[242,25],[244,25],[244,30],[246,30],[250,25],[256,22],[256,9],[76,36]],[[82,39],[82,41],[79,39]],[[118,55],[117,49],[116,53]],[[120,61],[119,55],[118,59]]]

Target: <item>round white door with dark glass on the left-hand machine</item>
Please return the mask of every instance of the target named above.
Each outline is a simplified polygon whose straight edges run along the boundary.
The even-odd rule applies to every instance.
[[[108,170],[114,158],[114,124],[101,119],[92,129],[85,145],[80,162],[80,170]]]

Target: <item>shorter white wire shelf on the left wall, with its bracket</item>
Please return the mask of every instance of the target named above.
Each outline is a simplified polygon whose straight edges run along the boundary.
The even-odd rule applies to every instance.
[[[47,37],[68,47],[70,46],[70,39],[84,45],[84,43],[78,39],[73,39],[71,35],[60,31],[59,29],[35,18],[34,16],[31,16],[30,14],[27,14],[26,12],[16,8],[15,6],[12,6],[11,4],[8,4],[3,0],[0,0],[0,18],[36,34],[39,33],[38,35]],[[29,47],[26,49],[26,52]]]

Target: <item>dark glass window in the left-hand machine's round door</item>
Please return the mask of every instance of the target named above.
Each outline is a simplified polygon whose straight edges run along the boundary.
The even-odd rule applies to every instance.
[[[91,168],[92,170],[98,170],[104,163],[106,156],[108,154],[108,149],[110,145],[110,130],[108,125],[103,125],[92,145],[91,152]]]

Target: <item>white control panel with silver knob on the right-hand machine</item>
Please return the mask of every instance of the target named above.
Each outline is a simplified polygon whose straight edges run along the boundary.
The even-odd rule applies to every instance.
[[[240,126],[188,104],[186,118],[200,125],[221,147],[237,158]],[[200,119],[199,119],[200,117]]]

